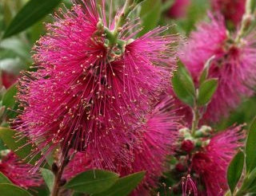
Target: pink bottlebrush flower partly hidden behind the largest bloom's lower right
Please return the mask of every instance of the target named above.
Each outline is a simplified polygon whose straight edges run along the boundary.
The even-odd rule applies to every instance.
[[[124,176],[138,171],[146,171],[146,177],[134,190],[133,195],[148,195],[150,188],[157,185],[158,178],[164,171],[166,155],[174,150],[172,144],[178,137],[178,121],[173,101],[163,100],[152,113],[146,116],[145,126],[142,127],[142,143],[134,149],[134,162],[130,168],[120,167],[118,172]]]

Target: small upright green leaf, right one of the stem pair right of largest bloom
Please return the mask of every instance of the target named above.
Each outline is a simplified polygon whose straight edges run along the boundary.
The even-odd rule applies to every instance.
[[[205,80],[199,87],[198,106],[208,104],[218,87],[218,79]]]

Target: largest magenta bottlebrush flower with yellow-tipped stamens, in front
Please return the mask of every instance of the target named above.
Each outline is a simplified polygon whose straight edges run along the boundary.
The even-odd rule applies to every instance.
[[[90,152],[98,164],[113,167],[114,155],[126,159],[121,146],[132,145],[131,124],[166,88],[177,39],[161,36],[164,27],[134,41],[138,20],[135,25],[128,20],[118,29],[123,48],[110,48],[102,24],[112,30],[115,20],[106,22],[102,5],[100,13],[94,0],[75,3],[47,25],[48,33],[34,48],[37,72],[20,80],[23,112],[14,127],[37,143],[38,151],[47,148],[45,156],[61,145]]]

